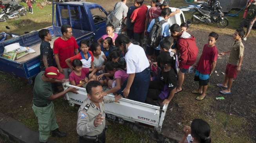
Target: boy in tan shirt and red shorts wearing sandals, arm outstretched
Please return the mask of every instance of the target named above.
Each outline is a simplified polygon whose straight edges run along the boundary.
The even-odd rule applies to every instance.
[[[244,51],[244,46],[241,41],[243,36],[245,36],[245,31],[243,29],[236,29],[233,36],[235,43],[232,45],[231,50],[218,54],[218,56],[223,56],[230,53],[229,63],[226,66],[224,83],[217,84],[218,87],[227,88],[220,91],[220,93],[224,95],[231,94],[233,79],[236,79],[238,72],[241,71]]]

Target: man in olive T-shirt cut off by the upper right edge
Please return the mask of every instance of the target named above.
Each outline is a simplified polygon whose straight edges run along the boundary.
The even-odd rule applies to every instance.
[[[241,21],[239,26],[240,29],[247,26],[246,34],[243,37],[244,41],[247,40],[247,36],[250,34],[252,30],[252,26],[256,21],[256,0],[253,0],[253,2],[250,2],[245,9],[248,9],[247,16],[245,19]]]

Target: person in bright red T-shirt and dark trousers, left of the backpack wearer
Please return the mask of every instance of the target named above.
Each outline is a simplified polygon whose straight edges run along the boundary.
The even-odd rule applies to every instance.
[[[135,0],[134,6],[138,7],[133,11],[131,15],[131,23],[134,23],[134,41],[140,43],[140,39],[142,38],[145,30],[145,20],[146,20],[146,13],[147,13],[147,6],[143,4],[144,0]]]

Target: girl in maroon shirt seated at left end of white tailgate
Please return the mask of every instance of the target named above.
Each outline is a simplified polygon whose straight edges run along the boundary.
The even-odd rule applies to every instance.
[[[83,64],[79,59],[74,59],[72,62],[73,71],[69,75],[69,82],[73,86],[82,87],[85,83],[92,81],[88,80],[89,68],[83,68]]]

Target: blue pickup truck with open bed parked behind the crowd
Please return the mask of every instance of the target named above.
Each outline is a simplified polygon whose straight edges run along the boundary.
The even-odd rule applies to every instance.
[[[54,20],[55,18],[55,20]],[[53,36],[51,46],[58,37],[62,36],[60,27],[69,24],[73,28],[73,36],[77,43],[83,39],[96,41],[105,34],[107,12],[100,5],[90,2],[53,2],[53,26],[46,27]],[[16,38],[0,42],[0,71],[26,79],[31,84],[33,78],[40,72],[40,43],[38,31],[30,32]],[[4,46],[20,43],[29,46],[36,53],[26,55],[12,61],[2,57]]]

